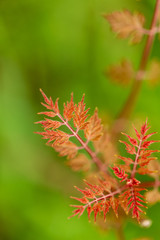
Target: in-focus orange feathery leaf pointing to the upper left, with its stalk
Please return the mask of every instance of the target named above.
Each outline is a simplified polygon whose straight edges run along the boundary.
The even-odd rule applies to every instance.
[[[39,114],[46,115],[50,118],[56,117],[56,120],[44,118],[44,120],[37,122],[44,128],[44,132],[37,132],[37,134],[42,135],[43,139],[47,139],[48,145],[52,146],[57,152],[59,152],[60,156],[67,156],[68,159],[75,158],[79,149],[85,149],[97,167],[101,171],[105,171],[105,167],[101,160],[88,146],[89,141],[98,140],[102,135],[103,130],[101,120],[98,118],[97,110],[88,121],[89,108],[86,109],[84,95],[81,101],[78,104],[75,104],[72,93],[71,100],[64,104],[62,116],[58,107],[58,98],[54,103],[51,97],[48,98],[42,90],[40,91],[44,98],[44,103],[42,103],[42,105],[49,111],[40,112]],[[72,127],[72,122],[74,123],[74,127]],[[63,131],[61,126],[67,127],[70,133]],[[85,140],[82,140],[79,136],[79,130],[84,131],[84,135],[86,136]],[[70,140],[72,137],[75,137],[79,144],[73,143]]]

